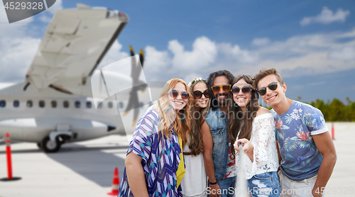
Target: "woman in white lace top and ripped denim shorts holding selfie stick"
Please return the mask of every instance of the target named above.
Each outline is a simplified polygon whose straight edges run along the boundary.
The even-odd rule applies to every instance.
[[[229,139],[234,143],[236,171],[239,171],[239,146],[243,144],[246,179],[251,196],[280,196],[278,152],[275,144],[275,122],[268,109],[258,105],[258,92],[248,74],[237,76],[229,101]],[[233,143],[231,143],[233,146]],[[231,158],[234,159],[234,158]]]

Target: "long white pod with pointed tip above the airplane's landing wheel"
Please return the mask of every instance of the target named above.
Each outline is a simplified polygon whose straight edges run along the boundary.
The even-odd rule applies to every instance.
[[[58,130],[58,125],[68,125],[67,130]],[[9,133],[11,140],[37,143],[55,132],[67,136],[71,134],[68,141],[75,142],[111,135],[117,131],[115,125],[79,118],[13,118],[0,120],[0,128],[0,137]]]

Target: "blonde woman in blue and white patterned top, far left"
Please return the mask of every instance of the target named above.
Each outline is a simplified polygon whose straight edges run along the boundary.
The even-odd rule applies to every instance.
[[[158,103],[137,123],[118,196],[182,196],[182,147],[190,135],[193,100],[182,79],[170,79]]]

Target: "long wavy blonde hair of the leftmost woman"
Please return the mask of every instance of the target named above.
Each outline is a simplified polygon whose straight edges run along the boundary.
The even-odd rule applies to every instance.
[[[171,89],[174,89],[176,84],[182,83],[185,86],[186,91],[190,94],[187,104],[178,113],[172,113],[174,109],[170,106],[168,93]],[[158,111],[161,120],[159,123],[159,132],[162,132],[165,137],[174,130],[174,133],[182,138],[182,147],[185,147],[187,142],[187,136],[191,133],[191,106],[193,99],[190,89],[185,81],[182,79],[170,79],[166,82],[163,90],[160,93],[158,104],[153,106],[153,109]]]

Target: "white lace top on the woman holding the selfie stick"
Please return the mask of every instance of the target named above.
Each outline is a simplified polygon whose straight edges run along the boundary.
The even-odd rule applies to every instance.
[[[278,171],[275,120],[271,113],[264,113],[254,118],[249,141],[253,144],[254,150],[253,162],[248,156],[244,157],[246,179],[251,179],[256,174]],[[236,153],[236,171],[239,171],[238,165],[239,154]]]

